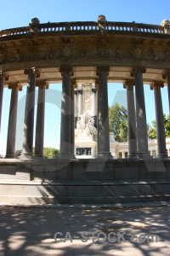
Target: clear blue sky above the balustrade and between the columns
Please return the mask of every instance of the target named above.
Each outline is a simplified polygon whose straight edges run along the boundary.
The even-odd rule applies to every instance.
[[[105,15],[108,21],[124,21],[160,25],[164,19],[170,20],[170,1],[156,0],[1,0],[0,30],[28,26],[31,19],[37,17],[41,23],[62,21],[96,21],[98,15]],[[113,86],[114,85],[114,86]],[[48,96],[56,96],[60,100],[61,84],[51,84]],[[122,84],[108,84],[109,105],[114,101],[117,91],[123,90]],[[4,89],[3,116],[0,132],[0,154],[5,154],[8,110],[10,93]],[[126,92],[125,92],[126,93]],[[155,119],[154,92],[149,85],[144,85],[144,96],[147,113],[147,122]],[[161,89],[163,112],[168,113],[167,87]],[[17,125],[16,148],[22,148],[24,101],[26,98],[26,86],[19,94],[19,114]],[[36,115],[35,108],[35,115]],[[44,146],[59,148],[60,106],[59,103],[46,103],[45,112],[45,137]]]

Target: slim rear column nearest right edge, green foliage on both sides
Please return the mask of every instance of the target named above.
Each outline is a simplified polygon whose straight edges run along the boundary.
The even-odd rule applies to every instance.
[[[163,82],[155,81],[150,84],[150,89],[154,90],[156,105],[156,138],[157,138],[157,157],[167,157],[165,127],[163,118],[163,109],[161,103],[161,88],[164,87]]]

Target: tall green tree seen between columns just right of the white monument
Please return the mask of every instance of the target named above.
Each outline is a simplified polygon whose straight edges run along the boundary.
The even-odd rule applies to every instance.
[[[109,128],[116,142],[127,142],[127,108],[118,103],[109,107]]]

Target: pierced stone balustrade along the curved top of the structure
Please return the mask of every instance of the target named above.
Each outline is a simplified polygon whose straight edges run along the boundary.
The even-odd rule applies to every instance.
[[[30,26],[6,29],[0,31],[0,37],[23,35],[30,32],[72,32],[72,31],[98,31],[98,22],[94,21],[78,21],[78,22],[59,22],[33,24]],[[150,33],[167,33],[163,26],[129,23],[129,22],[105,22],[105,31],[122,31],[122,32],[150,32]]]

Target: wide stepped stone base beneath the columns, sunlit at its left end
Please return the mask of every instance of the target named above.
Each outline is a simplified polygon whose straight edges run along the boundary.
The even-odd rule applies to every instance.
[[[0,160],[0,203],[170,201],[170,160]]]

